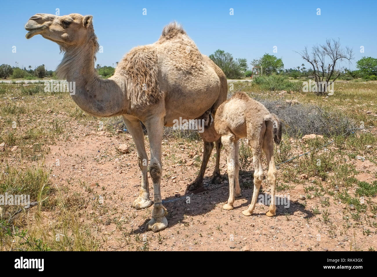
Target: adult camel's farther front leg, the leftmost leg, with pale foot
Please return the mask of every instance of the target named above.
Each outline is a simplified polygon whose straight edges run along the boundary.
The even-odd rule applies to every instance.
[[[148,156],[145,151],[144,145],[144,133],[141,128],[140,122],[138,119],[129,120],[123,116],[123,121],[129,130],[133,141],[135,142],[136,152],[138,154],[138,164],[141,170],[141,189],[139,197],[133,201],[131,207],[136,210],[144,209],[152,205],[152,201],[149,198],[149,184],[148,184]]]

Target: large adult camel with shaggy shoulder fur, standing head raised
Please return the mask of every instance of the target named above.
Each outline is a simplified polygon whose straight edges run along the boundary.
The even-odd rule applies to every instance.
[[[118,63],[112,77],[103,80],[94,69],[99,44],[94,34],[91,15],[32,16],[25,29],[26,38],[40,34],[56,42],[64,57],[56,73],[59,78],[75,82],[72,99],[89,115],[123,116],[135,141],[138,164],[142,172],[139,197],[132,207],[150,207],[147,177],[148,157],[139,121],[147,128],[150,142],[149,173],[153,181],[154,203],[147,230],[157,232],[167,227],[166,210],[162,206],[161,141],[164,126],[173,126],[179,118],[204,119],[207,125],[201,137],[204,152],[198,177],[190,190],[201,186],[208,159],[216,142],[216,167],[213,179],[219,178],[221,140],[214,132],[212,118],[217,107],[227,98],[227,79],[222,70],[176,23],[168,24],[158,41],[131,49]]]

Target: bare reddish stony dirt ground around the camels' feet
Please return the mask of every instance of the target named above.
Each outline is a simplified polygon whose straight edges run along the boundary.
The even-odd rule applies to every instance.
[[[253,172],[241,176],[242,196],[236,199],[234,210],[223,210],[222,205],[228,199],[227,181],[222,184],[208,184],[215,166],[213,156],[205,173],[204,188],[208,191],[191,196],[189,204],[185,198],[164,204],[169,212],[168,228],[159,233],[144,231],[144,226],[151,217],[152,207],[143,210],[130,207],[138,196],[141,182],[136,150],[131,148],[130,153],[124,155],[120,155],[116,150],[119,144],[127,143],[132,138],[128,134],[109,137],[110,133],[85,130],[87,128],[83,130],[83,126],[77,126],[77,129],[80,132],[70,134],[71,138],[68,141],[58,141],[56,145],[49,146],[51,152],[46,155],[45,166],[52,168],[52,183],[60,189],[68,187],[69,194],[77,192],[85,199],[94,201],[97,201],[96,195],[103,197],[98,197],[103,203],[100,204],[101,200],[98,199],[96,208],[87,205],[80,210],[81,224],[90,225],[97,230],[97,237],[102,241],[102,250],[147,248],[158,251],[349,251],[351,244],[353,248],[356,246],[365,250],[369,246],[377,245],[375,234],[362,234],[362,231],[366,230],[364,225],[355,225],[354,233],[343,233],[342,217],[348,207],[333,202],[328,207],[328,213],[331,221],[337,225],[337,229],[333,230],[337,235],[331,238],[331,230],[323,222],[321,214],[316,215],[311,211],[316,205],[320,205],[321,201],[318,197],[299,200],[300,195],[304,194],[303,187],[300,186],[277,193],[289,193],[290,206],[285,208],[284,203],[277,206],[275,217],[266,216],[268,207],[258,204],[252,216],[242,215],[241,211],[250,204],[252,195],[252,189],[245,189],[242,183],[252,181]],[[75,136],[77,138],[74,138]],[[148,143],[146,147],[148,149]],[[202,155],[201,149],[200,142],[196,147],[190,143],[163,143],[162,199],[172,200],[185,195],[187,184],[193,181],[198,173],[198,168],[193,165],[196,161],[190,158],[190,152]],[[182,159],[185,163],[179,166],[167,159],[173,153],[177,159]],[[57,166],[57,159],[60,166]],[[361,163],[358,161],[357,167],[365,166]],[[225,164],[225,155],[222,153],[221,173],[225,174],[224,179],[227,179]],[[375,164],[369,163],[368,166],[376,170]],[[360,178],[368,179],[372,176],[366,174]],[[70,180],[70,184],[67,180]],[[80,184],[75,181],[80,181]],[[153,200],[150,177],[149,184]],[[225,186],[221,187],[222,185]],[[262,190],[262,194],[269,190],[267,180],[263,181]],[[306,207],[300,205],[305,201]],[[54,212],[48,212],[46,216],[49,220],[54,220]],[[93,218],[96,218],[97,222],[94,222]]]

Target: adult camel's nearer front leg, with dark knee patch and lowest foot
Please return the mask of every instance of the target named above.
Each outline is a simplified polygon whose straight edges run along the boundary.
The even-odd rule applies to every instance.
[[[144,122],[147,127],[150,143],[150,165],[149,174],[153,181],[154,203],[152,219],[147,223],[146,229],[157,232],[167,227],[167,211],[162,206],[160,182],[161,182],[161,143],[162,133],[164,132],[163,118],[152,118]]]

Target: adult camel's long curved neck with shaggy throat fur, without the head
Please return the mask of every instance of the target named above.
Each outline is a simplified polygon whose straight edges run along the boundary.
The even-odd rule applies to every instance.
[[[125,81],[121,78],[103,80],[94,69],[95,53],[99,48],[94,32],[85,43],[72,48],[60,47],[65,52],[57,68],[59,78],[75,82],[72,99],[86,113],[109,117],[126,113]],[[114,77],[114,76],[113,76]]]

